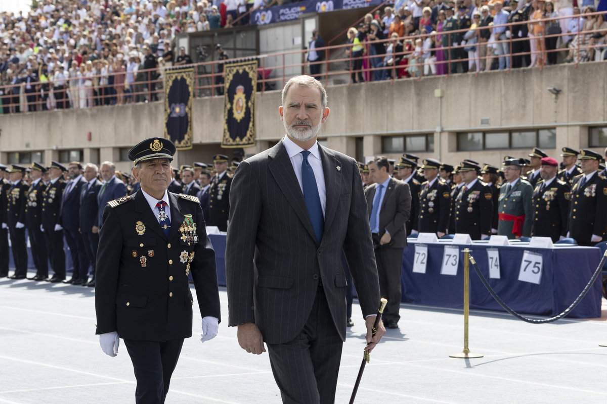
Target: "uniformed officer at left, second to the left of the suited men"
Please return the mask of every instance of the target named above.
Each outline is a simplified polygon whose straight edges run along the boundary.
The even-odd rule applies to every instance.
[[[42,233],[42,193],[46,185],[42,181],[42,174],[47,169],[40,163],[33,162],[30,167],[30,177],[32,184],[25,193],[27,206],[25,207],[25,228],[30,237],[30,246],[32,247],[32,258],[36,267],[36,275],[28,278],[30,280],[44,280],[49,277],[49,254]]]

